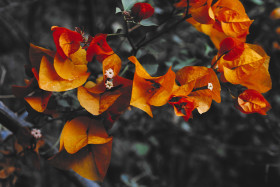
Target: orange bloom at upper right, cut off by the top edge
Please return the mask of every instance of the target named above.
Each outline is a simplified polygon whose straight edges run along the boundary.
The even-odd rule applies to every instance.
[[[187,21],[198,31],[208,35],[217,49],[227,37],[245,42],[253,21],[247,16],[242,3],[239,0],[218,0],[213,6],[210,5],[211,3],[204,5],[202,12]]]

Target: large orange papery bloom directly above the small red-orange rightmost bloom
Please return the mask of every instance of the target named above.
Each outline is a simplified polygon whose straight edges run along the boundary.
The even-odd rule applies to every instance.
[[[271,78],[268,72],[270,57],[262,47],[245,44],[242,55],[227,61],[221,58],[218,61],[218,71],[223,73],[226,81],[232,84],[241,84],[248,89],[265,93],[271,89]]]

